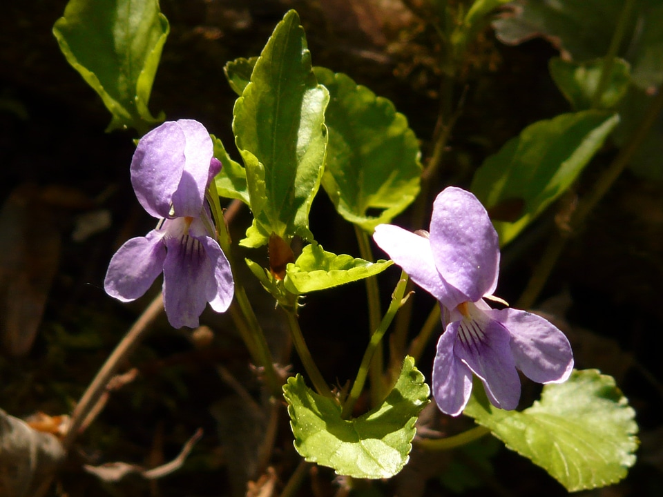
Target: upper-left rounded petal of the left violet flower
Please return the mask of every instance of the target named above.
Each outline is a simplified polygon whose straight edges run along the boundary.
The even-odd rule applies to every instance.
[[[186,135],[173,121],[154,128],[138,142],[131,159],[131,184],[138,202],[153,217],[172,217],[171,199],[182,180],[185,147]]]

